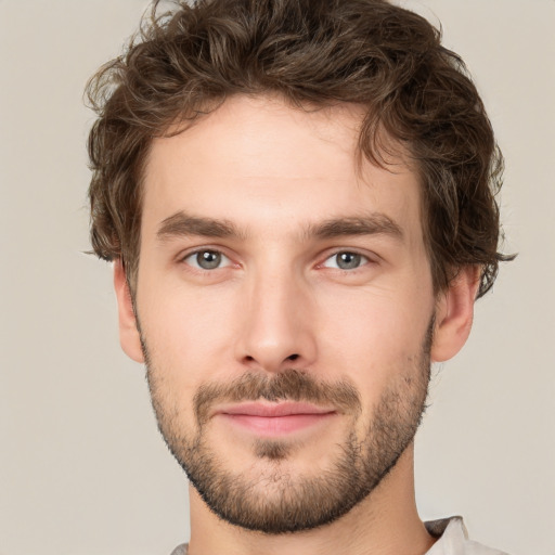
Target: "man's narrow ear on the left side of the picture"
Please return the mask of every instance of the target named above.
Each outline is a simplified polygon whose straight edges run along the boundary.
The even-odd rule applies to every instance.
[[[144,362],[141,336],[137,325],[131,292],[127,283],[126,271],[120,260],[114,263],[114,288],[116,291],[119,315],[119,343],[124,352],[137,362]]]

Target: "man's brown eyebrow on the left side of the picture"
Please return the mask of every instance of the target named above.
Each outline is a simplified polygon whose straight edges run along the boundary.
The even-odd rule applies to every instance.
[[[243,236],[243,233],[229,220],[199,218],[188,215],[182,210],[163,220],[156,232],[156,237],[162,242],[191,235],[204,237],[240,237]]]

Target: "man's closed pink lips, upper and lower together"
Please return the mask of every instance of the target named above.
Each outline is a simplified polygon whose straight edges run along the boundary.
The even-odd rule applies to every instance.
[[[337,415],[335,409],[299,402],[248,402],[220,406],[214,416],[221,417],[259,437],[281,437],[326,423]]]

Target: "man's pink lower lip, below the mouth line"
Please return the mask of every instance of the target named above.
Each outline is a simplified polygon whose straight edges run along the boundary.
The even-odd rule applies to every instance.
[[[254,416],[250,414],[221,414],[229,422],[264,437],[286,436],[327,421],[335,413],[288,414],[286,416]]]

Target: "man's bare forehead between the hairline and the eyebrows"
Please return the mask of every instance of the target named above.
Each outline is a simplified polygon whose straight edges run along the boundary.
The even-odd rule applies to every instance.
[[[154,140],[143,231],[179,210],[260,228],[373,210],[401,227],[418,223],[414,171],[399,159],[359,165],[363,117],[351,104],[300,109],[278,98],[227,100],[183,132]]]

